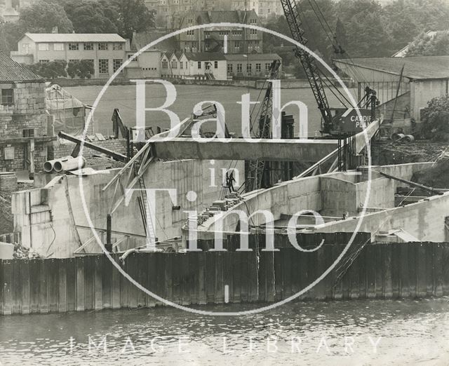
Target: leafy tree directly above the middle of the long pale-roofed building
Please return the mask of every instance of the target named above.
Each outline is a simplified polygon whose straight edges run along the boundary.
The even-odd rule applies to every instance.
[[[107,1],[65,0],[67,17],[76,33],[117,33],[119,14]]]

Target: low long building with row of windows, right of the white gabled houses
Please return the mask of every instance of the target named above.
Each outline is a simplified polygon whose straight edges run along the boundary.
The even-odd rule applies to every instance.
[[[227,61],[227,75],[233,76],[259,76],[269,74],[274,60],[282,59],[276,53],[248,53],[246,55],[225,55]],[[282,70],[282,65],[279,72]]]

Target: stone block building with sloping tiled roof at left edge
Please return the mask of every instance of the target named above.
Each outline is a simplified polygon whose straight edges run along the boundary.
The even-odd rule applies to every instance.
[[[45,82],[0,52],[0,171],[41,168],[47,147]]]

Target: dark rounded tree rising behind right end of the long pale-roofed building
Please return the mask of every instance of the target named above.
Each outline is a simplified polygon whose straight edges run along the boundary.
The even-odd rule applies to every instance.
[[[106,0],[100,0],[105,3]],[[154,11],[149,11],[143,0],[111,0],[119,19],[119,34],[127,39],[133,38],[134,32],[143,32],[154,27]]]

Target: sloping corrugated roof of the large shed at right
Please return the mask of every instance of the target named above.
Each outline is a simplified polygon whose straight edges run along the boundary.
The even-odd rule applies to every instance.
[[[414,57],[370,57],[335,60],[335,64],[342,62],[366,69],[373,69],[389,74],[400,75],[403,65],[403,76],[408,79],[448,79],[448,56],[414,56]]]

